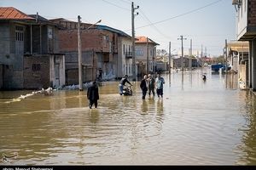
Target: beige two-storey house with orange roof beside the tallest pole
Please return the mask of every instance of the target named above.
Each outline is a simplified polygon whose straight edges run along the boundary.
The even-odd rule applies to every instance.
[[[156,46],[160,45],[148,37],[136,37],[135,60],[137,76],[142,77],[148,72],[155,71]]]

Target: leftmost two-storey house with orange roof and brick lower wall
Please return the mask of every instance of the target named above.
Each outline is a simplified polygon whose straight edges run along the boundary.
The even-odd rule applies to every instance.
[[[38,14],[0,7],[0,88],[39,89],[65,84],[58,26]]]

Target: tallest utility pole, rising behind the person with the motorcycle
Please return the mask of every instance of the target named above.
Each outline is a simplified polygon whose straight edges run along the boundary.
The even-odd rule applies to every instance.
[[[137,6],[139,8],[139,6]],[[136,80],[136,66],[135,66],[135,31],[134,31],[134,16],[137,14],[134,14],[135,9],[133,6],[133,2],[131,3],[131,42],[132,42],[132,77],[133,80]]]

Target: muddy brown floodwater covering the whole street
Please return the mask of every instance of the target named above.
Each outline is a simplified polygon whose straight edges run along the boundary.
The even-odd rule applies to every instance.
[[[0,92],[0,156],[18,153],[0,164],[256,165],[255,97],[238,89],[237,75],[163,77],[163,99],[142,100],[139,82],[133,96],[103,82],[91,111],[86,90]]]

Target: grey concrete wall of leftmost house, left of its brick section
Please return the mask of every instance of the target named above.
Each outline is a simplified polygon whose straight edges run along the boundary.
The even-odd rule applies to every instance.
[[[0,38],[3,89],[23,88],[23,42],[15,41],[15,26],[14,23],[8,21],[0,23],[0,37],[3,37]]]

